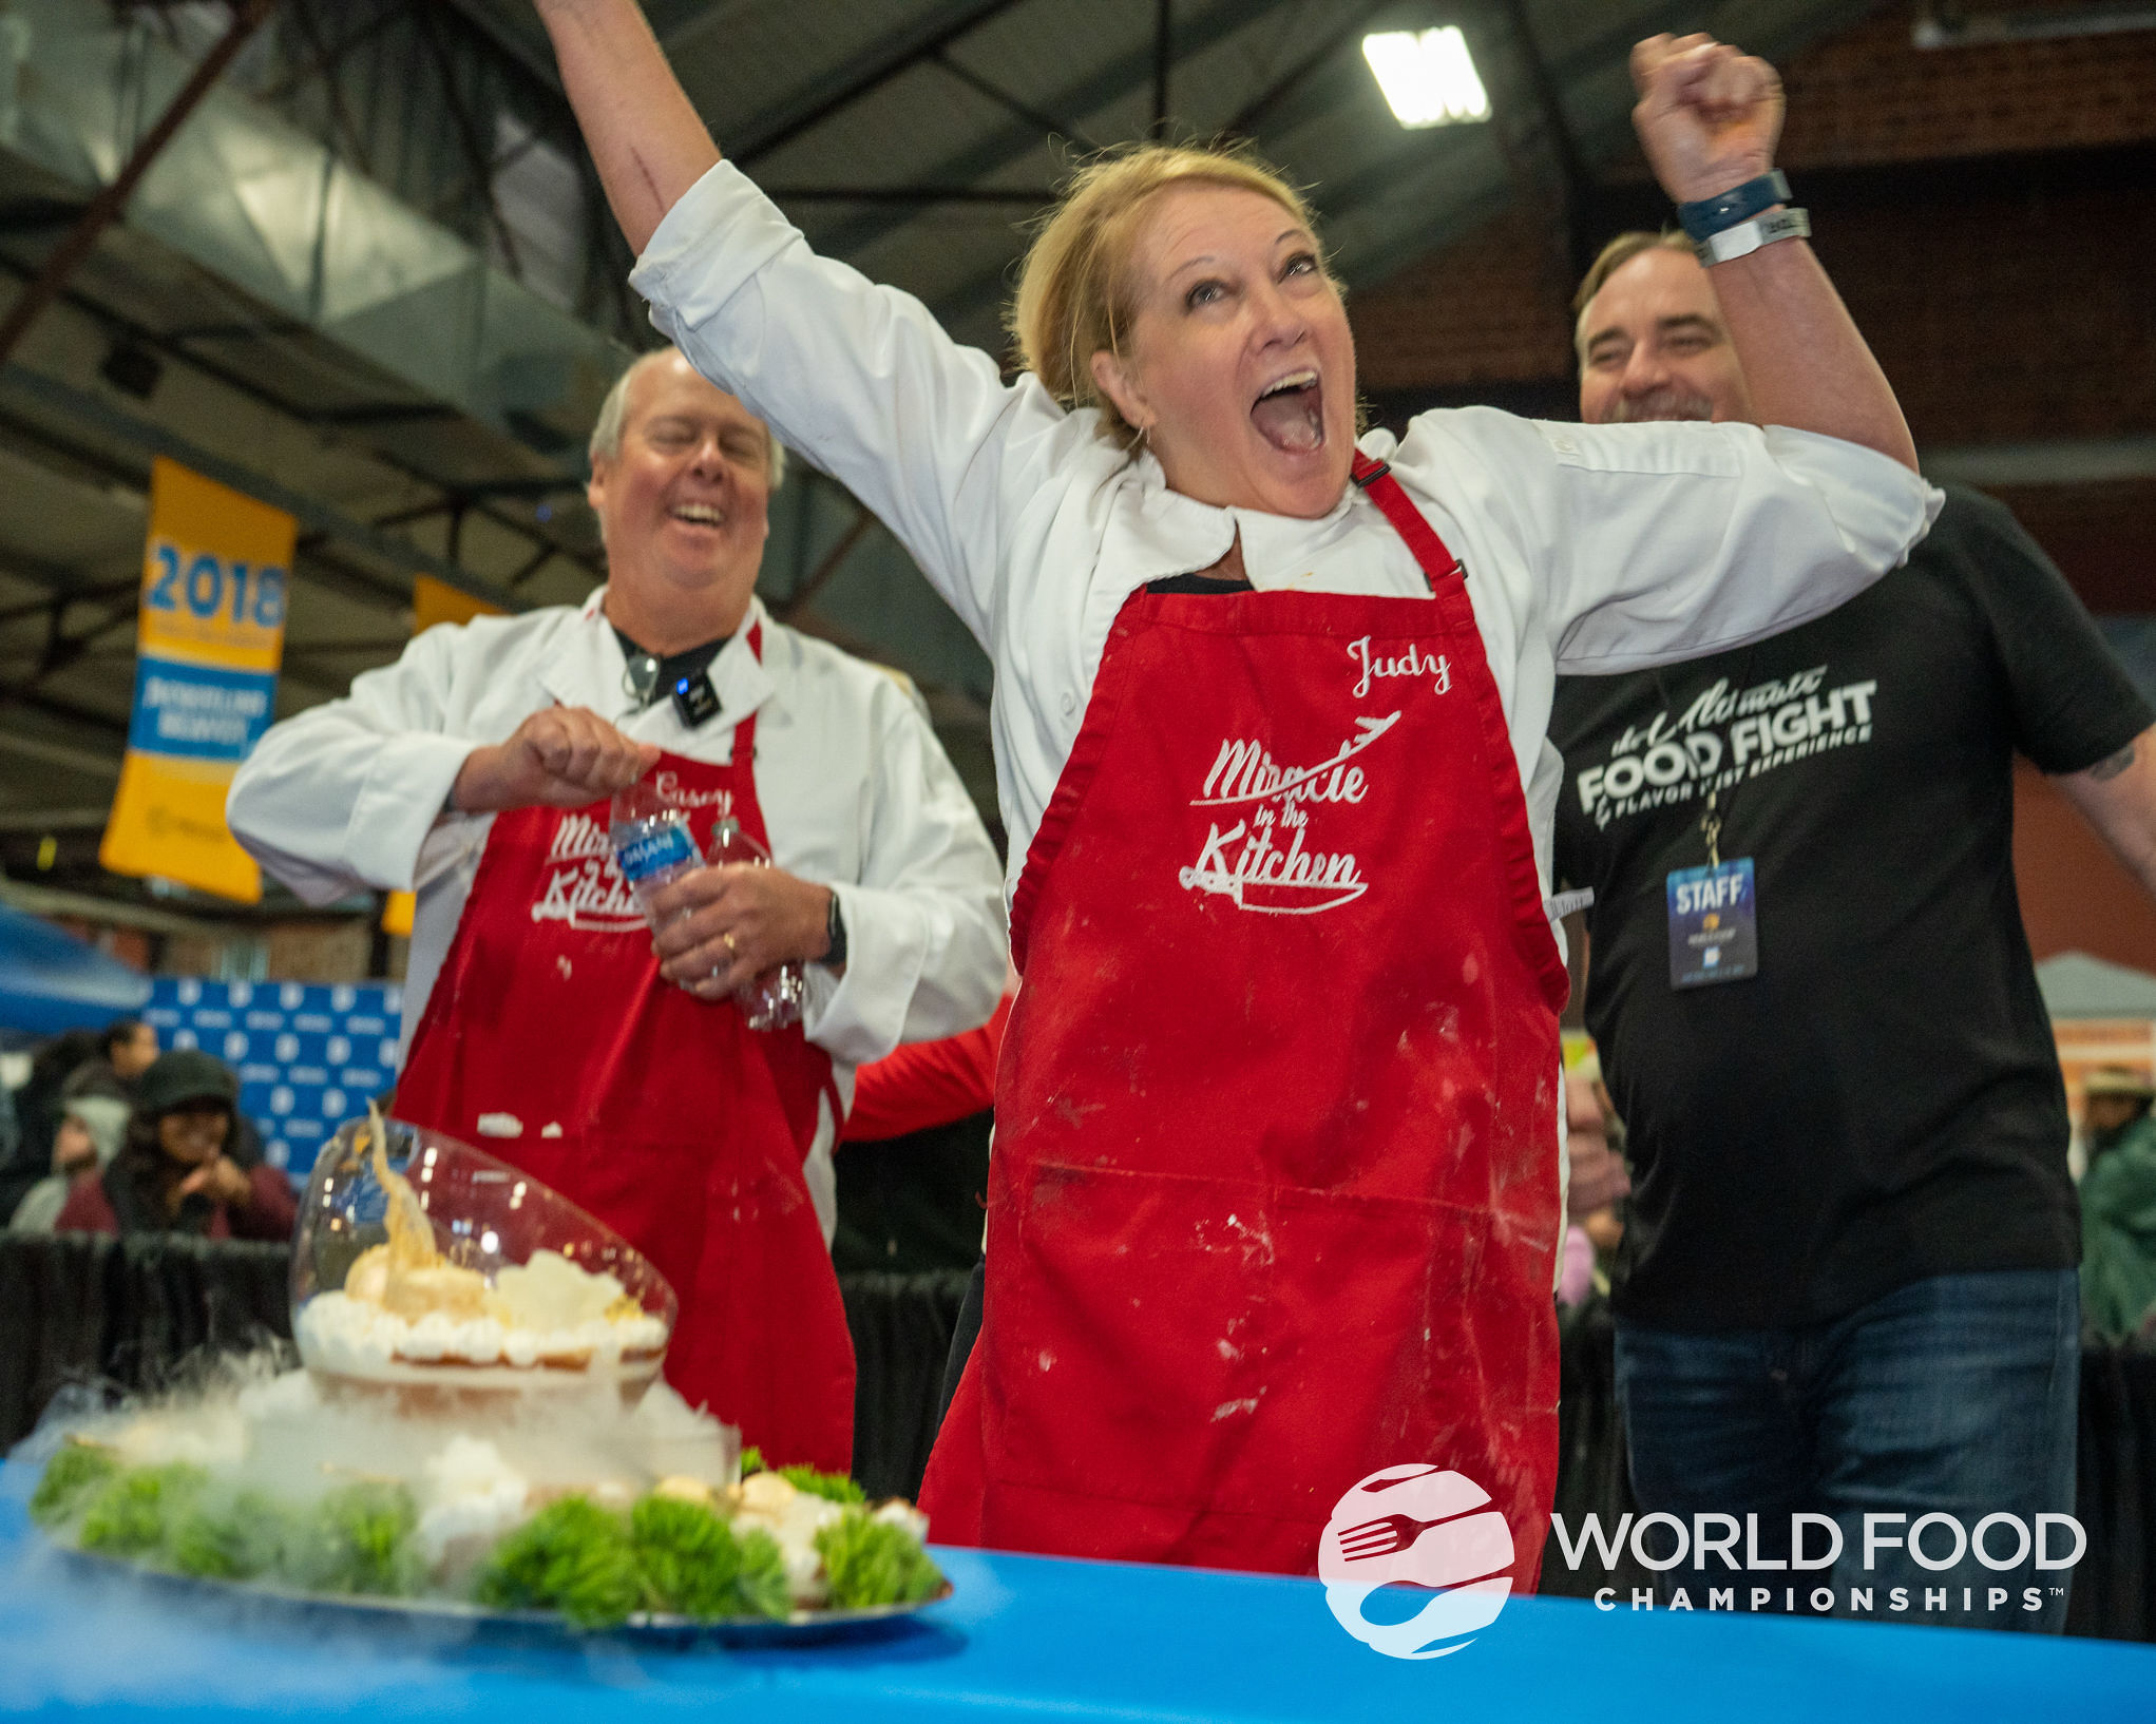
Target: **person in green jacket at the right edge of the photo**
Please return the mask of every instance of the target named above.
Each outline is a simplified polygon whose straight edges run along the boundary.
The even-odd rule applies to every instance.
[[[2156,1086],[2139,1071],[2089,1073],[2081,1177],[2081,1315],[2104,1340],[2156,1334]]]

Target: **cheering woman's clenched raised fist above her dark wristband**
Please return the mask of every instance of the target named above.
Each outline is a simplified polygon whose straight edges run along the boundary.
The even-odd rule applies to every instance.
[[[1714,37],[1647,37],[1632,50],[1632,127],[1675,203],[1714,198],[1774,166],[1774,67]]]

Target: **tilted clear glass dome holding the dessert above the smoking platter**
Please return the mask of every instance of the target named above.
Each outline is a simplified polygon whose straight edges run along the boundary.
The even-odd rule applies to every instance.
[[[675,1315],[666,1278],[619,1233],[440,1131],[347,1123],[300,1202],[291,1332],[317,1377],[634,1399]]]

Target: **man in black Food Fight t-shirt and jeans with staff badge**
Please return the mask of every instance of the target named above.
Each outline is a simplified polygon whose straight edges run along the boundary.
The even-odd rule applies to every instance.
[[[1682,239],[1613,241],[1578,304],[1585,420],[1753,418]],[[1595,894],[1587,1026],[1634,1183],[1619,1396],[1641,1506],[1695,1543],[1662,1586],[1695,1608],[1733,1584],[1736,1608],[1824,1588],[1880,1621],[2063,1625],[2070,1571],[2037,1562],[2072,1537],[2037,1517],[2074,1506],[2081,1231],[2012,774],[2027,754],[2156,879],[2152,718],[1973,491],[1830,614],[1559,683],[1557,879]],[[2014,1519],[1979,1556],[1958,1534],[1986,1515]]]

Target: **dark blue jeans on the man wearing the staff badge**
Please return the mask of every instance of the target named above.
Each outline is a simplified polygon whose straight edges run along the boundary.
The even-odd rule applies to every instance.
[[[2037,1515],[2074,1511],[2078,1379],[2072,1269],[1934,1276],[1796,1330],[1680,1334],[1619,1319],[1632,1491],[1643,1513],[1677,1517],[1690,1545],[1660,1573],[1664,1603],[1684,1586],[1703,1610],[1723,1586],[1736,1610],[2057,1633],[2072,1569],[2040,1560],[2074,1556],[2078,1541]],[[1820,1558],[1835,1534],[1818,1521],[1792,1562],[1800,1513],[1839,1530],[1833,1562]],[[1951,1524],[1921,1526],[1912,1552],[1925,1515]],[[1977,1534],[1988,1515],[2016,1517],[1984,1528],[1990,1562],[1968,1545],[1947,1562],[1955,1528]],[[1641,1537],[1649,1565],[1677,1547],[1669,1521]]]

